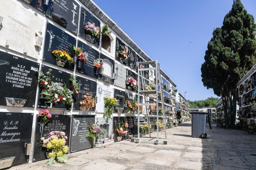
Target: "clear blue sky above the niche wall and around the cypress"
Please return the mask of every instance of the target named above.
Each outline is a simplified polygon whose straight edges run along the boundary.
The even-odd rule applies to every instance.
[[[177,84],[188,100],[214,96],[203,86],[201,64],[213,29],[233,0],[93,0]],[[256,1],[241,0],[256,17]]]

